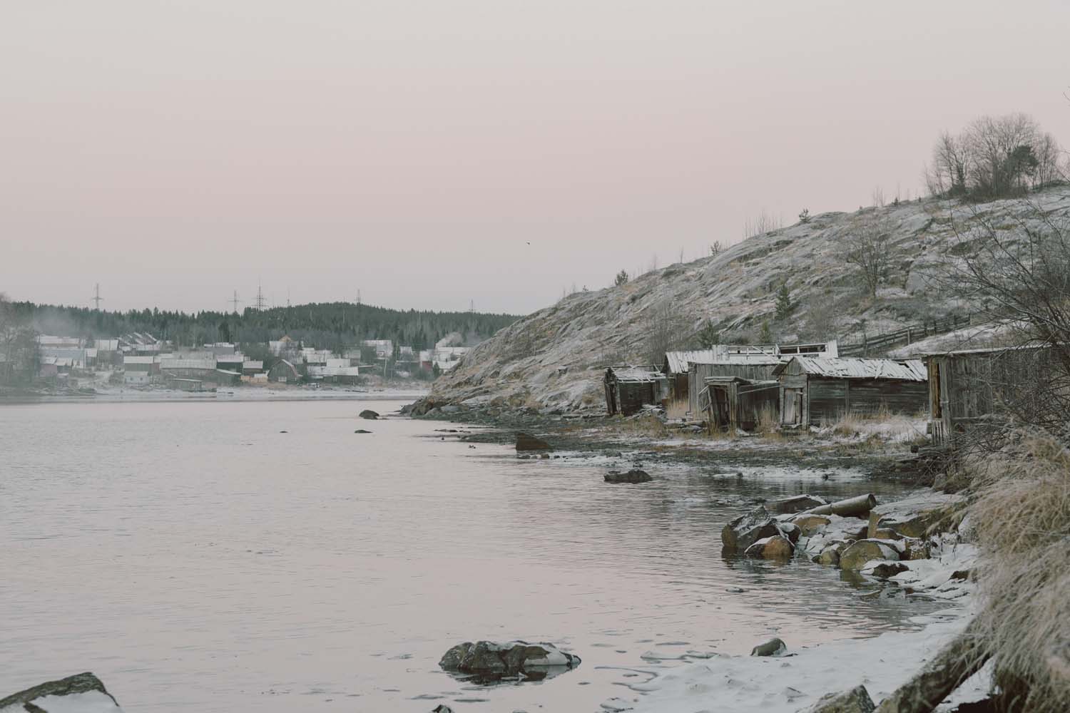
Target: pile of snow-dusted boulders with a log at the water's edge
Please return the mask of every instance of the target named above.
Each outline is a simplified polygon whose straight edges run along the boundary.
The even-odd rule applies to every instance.
[[[928,536],[946,505],[931,495],[885,506],[873,495],[838,502],[799,495],[733,520],[721,540],[747,557],[785,560],[801,548],[821,564],[891,577],[907,569],[903,560],[929,558]]]

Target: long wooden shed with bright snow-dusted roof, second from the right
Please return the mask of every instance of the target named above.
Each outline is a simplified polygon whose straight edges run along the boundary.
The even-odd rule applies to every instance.
[[[926,409],[928,374],[920,359],[796,356],[774,370],[780,379],[780,422],[821,425],[852,414]]]

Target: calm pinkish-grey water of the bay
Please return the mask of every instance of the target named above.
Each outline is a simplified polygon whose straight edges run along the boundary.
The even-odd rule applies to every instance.
[[[92,670],[135,712],[595,711],[687,651],[867,636],[931,607],[721,557],[734,498],[874,487],[845,474],[609,485],[591,462],[355,417],[399,406],[0,406],[0,696]],[[495,687],[439,670],[475,638],[583,665]]]

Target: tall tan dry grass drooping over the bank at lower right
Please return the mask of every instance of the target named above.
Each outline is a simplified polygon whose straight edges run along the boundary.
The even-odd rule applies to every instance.
[[[1070,701],[1070,450],[1027,437],[967,464],[985,551],[977,623],[1004,711],[1056,713]]]

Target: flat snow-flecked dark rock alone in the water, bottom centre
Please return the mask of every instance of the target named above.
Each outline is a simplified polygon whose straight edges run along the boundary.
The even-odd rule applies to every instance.
[[[579,656],[565,653],[552,644],[526,641],[465,641],[449,649],[439,662],[439,666],[447,671],[486,680],[513,676],[541,679],[554,669],[567,670],[579,665]]]

